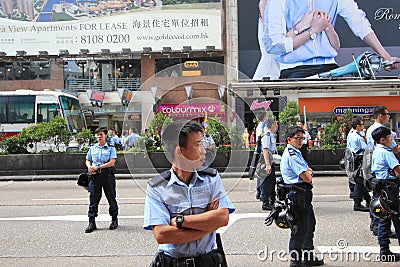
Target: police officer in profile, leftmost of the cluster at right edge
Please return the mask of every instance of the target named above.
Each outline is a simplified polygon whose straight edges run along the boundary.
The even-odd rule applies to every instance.
[[[354,183],[354,211],[364,211],[369,212],[369,208],[361,204],[362,200],[365,199],[367,205],[371,201],[371,196],[365,190],[361,165],[362,158],[364,156],[365,148],[367,147],[367,142],[364,133],[364,121],[359,116],[355,116],[351,121],[351,127],[349,134],[347,135],[347,148],[354,155],[354,177],[349,177],[349,182]]]

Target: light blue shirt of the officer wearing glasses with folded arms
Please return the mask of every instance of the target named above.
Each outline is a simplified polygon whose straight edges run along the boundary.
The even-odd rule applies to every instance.
[[[280,169],[285,184],[304,183],[300,174],[308,170],[308,164],[300,150],[288,144],[282,154]]]

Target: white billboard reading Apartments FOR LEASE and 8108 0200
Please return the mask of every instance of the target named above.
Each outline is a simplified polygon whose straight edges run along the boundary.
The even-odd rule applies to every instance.
[[[222,49],[221,0],[0,0],[0,51]],[[201,3],[197,3],[201,2]]]

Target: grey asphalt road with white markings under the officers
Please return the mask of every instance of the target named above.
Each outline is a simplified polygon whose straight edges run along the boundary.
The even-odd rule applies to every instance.
[[[288,266],[290,231],[264,225],[268,213],[255,199],[255,182],[224,178],[223,183],[236,207],[229,225],[219,230],[229,266]],[[108,230],[103,196],[99,230],[85,234],[88,193],[75,181],[0,182],[0,265],[148,266],[157,244],[142,229],[145,184],[118,180],[120,227]],[[398,266],[375,262],[379,247],[369,231],[369,214],[352,208],[346,177],[314,178],[314,240],[325,266]]]

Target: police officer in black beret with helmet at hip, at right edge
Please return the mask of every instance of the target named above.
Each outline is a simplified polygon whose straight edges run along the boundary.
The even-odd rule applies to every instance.
[[[400,245],[400,220],[399,220],[399,183],[400,164],[392,149],[392,136],[389,128],[379,127],[372,132],[372,138],[376,142],[372,154],[371,171],[379,183],[374,190],[374,195],[387,197],[387,204],[397,214],[391,213],[388,219],[377,218],[378,220],[378,243],[380,245],[381,261],[400,261],[400,254],[393,253],[389,249],[391,222],[396,231],[397,240]],[[393,170],[394,175],[389,173]]]

